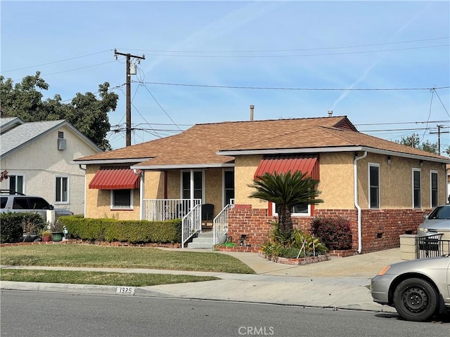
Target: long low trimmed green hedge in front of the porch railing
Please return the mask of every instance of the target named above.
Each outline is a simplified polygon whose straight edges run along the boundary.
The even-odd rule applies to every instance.
[[[137,243],[180,243],[181,220],[147,221],[91,219],[61,216],[58,221],[68,227],[70,237],[89,241]]]

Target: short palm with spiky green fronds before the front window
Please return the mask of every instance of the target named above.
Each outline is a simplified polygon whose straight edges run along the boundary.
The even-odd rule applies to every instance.
[[[293,231],[293,220],[290,210],[299,204],[319,204],[323,202],[316,199],[321,191],[317,190],[319,180],[314,180],[307,173],[295,171],[291,173],[264,173],[253,180],[256,189],[250,194],[251,198],[271,201],[278,206],[278,227],[284,234]]]

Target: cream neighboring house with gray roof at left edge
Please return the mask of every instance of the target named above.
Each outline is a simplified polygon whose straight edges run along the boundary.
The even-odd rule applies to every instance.
[[[59,209],[84,214],[86,175],[70,161],[98,152],[102,150],[68,121],[1,118],[0,169],[9,175],[1,189],[38,195]]]

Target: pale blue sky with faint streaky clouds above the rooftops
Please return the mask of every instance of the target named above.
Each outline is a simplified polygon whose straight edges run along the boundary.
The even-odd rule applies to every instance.
[[[119,95],[113,148],[194,124],[347,116],[372,136],[450,146],[450,1],[5,1],[0,74],[44,98]],[[232,136],[232,135],[230,135]]]

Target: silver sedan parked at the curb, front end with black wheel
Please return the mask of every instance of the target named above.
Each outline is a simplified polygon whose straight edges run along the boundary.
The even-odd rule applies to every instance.
[[[372,279],[371,295],[409,321],[444,314],[450,310],[450,255],[387,265]]]

